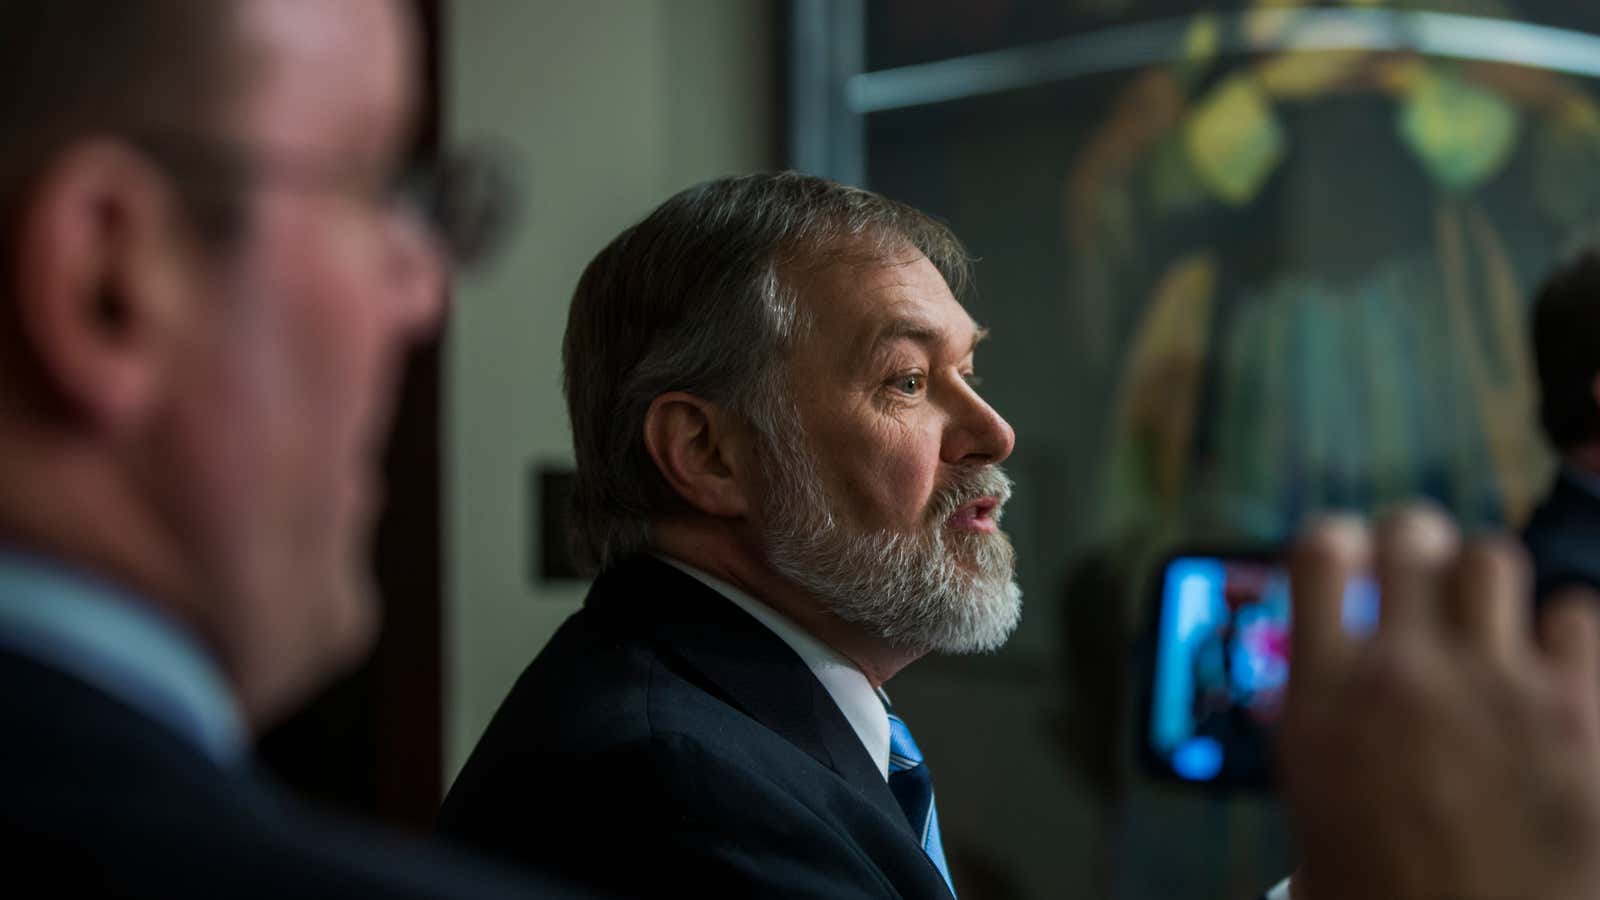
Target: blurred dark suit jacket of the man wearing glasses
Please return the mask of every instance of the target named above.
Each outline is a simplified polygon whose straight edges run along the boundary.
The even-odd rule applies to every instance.
[[[166,725],[8,652],[0,735],[0,858],[18,895],[579,895],[309,814],[264,775],[224,770]]]

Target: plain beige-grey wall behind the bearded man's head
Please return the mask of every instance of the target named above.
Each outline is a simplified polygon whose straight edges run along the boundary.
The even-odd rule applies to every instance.
[[[530,199],[506,258],[458,288],[446,343],[446,781],[582,599],[528,577],[528,469],[571,460],[571,288],[674,191],[776,163],[771,35],[762,0],[446,2],[448,139],[504,144]]]

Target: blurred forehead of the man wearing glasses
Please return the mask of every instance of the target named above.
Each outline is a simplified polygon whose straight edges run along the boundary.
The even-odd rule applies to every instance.
[[[251,82],[248,138],[288,151],[381,154],[416,104],[416,35],[392,0],[246,0],[238,19]]]

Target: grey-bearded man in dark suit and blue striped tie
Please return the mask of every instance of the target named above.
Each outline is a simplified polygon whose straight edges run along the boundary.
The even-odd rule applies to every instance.
[[[883,684],[1021,613],[965,280],[942,224],[792,173],[688,189],[589,264],[563,359],[600,577],[445,831],[653,894],[950,897]]]

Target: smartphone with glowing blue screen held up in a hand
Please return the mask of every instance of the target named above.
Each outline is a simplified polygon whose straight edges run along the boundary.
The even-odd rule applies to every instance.
[[[1162,778],[1269,788],[1290,677],[1290,577],[1278,548],[1189,549],[1152,585],[1141,756]],[[1378,585],[1352,580],[1344,626],[1378,625]]]

